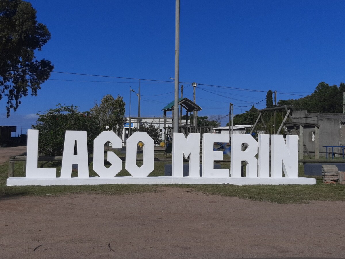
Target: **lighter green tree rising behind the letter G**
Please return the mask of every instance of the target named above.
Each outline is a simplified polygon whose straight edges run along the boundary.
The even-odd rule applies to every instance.
[[[125,105],[123,97],[117,96],[116,99],[110,94],[105,95],[101,104],[96,103],[90,112],[98,118],[103,130],[114,131],[119,137],[122,137],[125,119]]]

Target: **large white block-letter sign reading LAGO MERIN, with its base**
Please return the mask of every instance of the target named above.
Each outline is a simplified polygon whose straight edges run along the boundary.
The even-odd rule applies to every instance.
[[[38,168],[38,160],[49,160],[47,157],[38,157],[38,134],[38,130],[28,131],[26,177],[9,177],[7,185],[316,183],[314,178],[298,177],[297,135],[287,135],[286,142],[283,135],[259,135],[257,142],[252,135],[233,134],[229,160],[228,154],[215,151],[218,146],[224,148],[221,143],[228,143],[229,135],[204,133],[200,161],[200,134],[189,133],[186,137],[183,133],[173,133],[169,136],[169,140],[172,137],[172,142],[167,143],[169,148],[172,145],[172,157],[166,153],[166,148],[163,153],[158,147],[158,161],[154,162],[155,142],[146,132],[135,132],[126,140],[125,157],[116,155],[119,154],[116,149],[122,148],[121,138],[112,131],[102,132],[93,141],[93,170],[99,176],[90,177],[87,132],[66,131],[61,176],[56,177],[55,168]],[[104,147],[107,142],[111,142],[113,149],[107,151],[107,162],[111,164],[109,168],[105,166]],[[141,160],[137,159],[139,142],[143,144],[141,166],[137,165],[137,160]],[[189,173],[186,177],[183,176],[184,158],[189,160]],[[20,160],[22,161],[22,158]],[[131,176],[116,176],[122,169],[122,161],[126,161],[125,169]],[[223,168],[214,169],[215,161],[221,162]],[[246,163],[245,177],[241,174],[242,161]],[[78,177],[71,177],[73,164],[78,165]],[[156,169],[155,175],[161,176],[149,176],[156,165],[166,171]],[[169,166],[172,171],[169,171]],[[163,176],[164,174],[166,176]]]

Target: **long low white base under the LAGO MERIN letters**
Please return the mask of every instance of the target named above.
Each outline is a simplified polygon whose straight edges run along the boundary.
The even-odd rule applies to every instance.
[[[247,178],[247,177],[228,177],[228,178],[206,178],[206,177],[172,177],[172,176],[152,176],[152,177],[132,177],[120,176],[112,178],[25,178],[9,177],[8,186],[15,185],[97,185],[97,184],[315,184],[314,178]]]

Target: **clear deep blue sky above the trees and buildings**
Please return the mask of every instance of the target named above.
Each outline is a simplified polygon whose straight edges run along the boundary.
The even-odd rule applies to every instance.
[[[128,116],[130,87],[137,91],[138,80],[57,72],[171,81],[140,81],[141,116],[162,115],[174,98],[169,79],[174,77],[174,0],[30,2],[37,20],[51,32],[37,58],[51,60],[55,72],[38,96],[22,98],[10,118],[2,99],[0,125],[22,127],[24,134],[36,113],[58,103],[86,111],[106,94],[123,96]],[[229,102],[236,105],[235,114],[242,113],[263,100],[267,90],[277,90],[279,100],[310,94],[321,81],[339,85],[345,81],[344,10],[345,1],[335,0],[181,1],[184,97],[192,99],[190,83],[195,81],[203,109],[198,115],[224,116]],[[265,101],[255,107],[264,108]],[[137,112],[138,98],[132,93],[131,115]]]

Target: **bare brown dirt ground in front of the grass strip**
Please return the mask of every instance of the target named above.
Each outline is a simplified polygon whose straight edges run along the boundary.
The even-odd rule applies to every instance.
[[[345,202],[158,193],[0,201],[1,258],[345,257]]]

